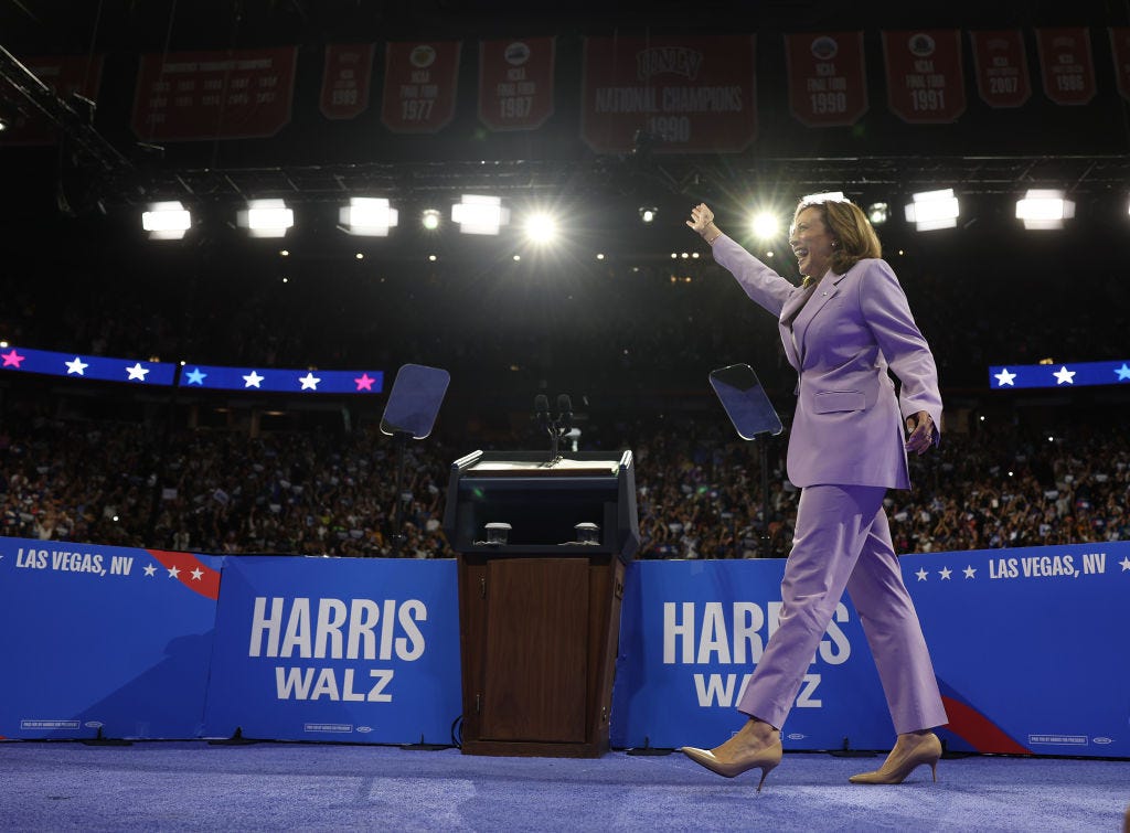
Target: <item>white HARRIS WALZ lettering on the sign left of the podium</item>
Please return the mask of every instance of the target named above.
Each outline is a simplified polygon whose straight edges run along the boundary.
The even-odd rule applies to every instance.
[[[411,662],[424,656],[427,606],[418,599],[255,598],[249,657]],[[276,666],[279,700],[389,703],[391,668]],[[359,691],[358,691],[359,688]]]

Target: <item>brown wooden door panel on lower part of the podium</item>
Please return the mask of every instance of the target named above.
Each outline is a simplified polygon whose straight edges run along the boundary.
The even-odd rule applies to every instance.
[[[481,738],[583,743],[586,558],[487,564]]]

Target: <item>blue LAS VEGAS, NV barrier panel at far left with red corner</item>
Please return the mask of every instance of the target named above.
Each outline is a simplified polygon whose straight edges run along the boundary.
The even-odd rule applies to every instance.
[[[221,561],[0,538],[0,736],[197,737]]]

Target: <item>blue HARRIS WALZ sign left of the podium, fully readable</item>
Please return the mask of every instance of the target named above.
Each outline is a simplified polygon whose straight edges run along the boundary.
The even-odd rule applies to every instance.
[[[455,562],[229,556],[205,732],[451,743]]]

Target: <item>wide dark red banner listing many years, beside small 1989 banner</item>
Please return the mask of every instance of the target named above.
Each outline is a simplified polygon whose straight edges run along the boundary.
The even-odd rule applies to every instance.
[[[290,121],[294,46],[141,57],[133,97],[144,141],[259,139]]]

